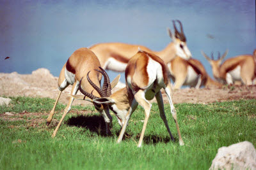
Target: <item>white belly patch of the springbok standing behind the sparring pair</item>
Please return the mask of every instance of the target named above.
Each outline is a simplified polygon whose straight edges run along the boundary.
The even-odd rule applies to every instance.
[[[117,72],[124,72],[125,68],[127,66],[127,63],[119,62],[118,60],[114,58],[109,58],[106,62],[104,68],[110,69]]]

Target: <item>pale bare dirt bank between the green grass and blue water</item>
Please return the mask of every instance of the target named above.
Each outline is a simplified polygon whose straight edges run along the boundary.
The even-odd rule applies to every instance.
[[[55,100],[59,93],[57,81],[58,77],[52,76],[50,71],[44,68],[37,69],[31,74],[0,73],[0,96],[49,97]],[[68,103],[70,90],[71,86],[62,92],[60,103]],[[78,92],[78,94],[81,93]],[[168,103],[164,93],[163,97],[164,103]],[[239,99],[256,99],[256,86],[232,86],[223,87],[223,89],[180,89],[173,92],[173,103],[213,103]],[[90,103],[75,100],[73,104],[84,106]]]

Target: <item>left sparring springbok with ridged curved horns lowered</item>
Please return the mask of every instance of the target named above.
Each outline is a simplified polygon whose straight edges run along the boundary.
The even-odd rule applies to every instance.
[[[109,88],[108,80],[106,80],[104,76],[104,83],[102,85],[102,89],[100,87],[100,80],[102,78],[102,74],[99,71],[95,71],[94,69],[98,69],[100,67],[100,62],[96,55],[88,48],[79,48],[68,58],[67,62],[61,69],[61,73],[58,79],[58,89],[60,93],[56,99],[56,102],[49,113],[49,117],[47,118],[47,124],[49,125],[52,121],[52,116],[54,115],[54,110],[56,108],[56,104],[60,99],[61,92],[65,90],[68,85],[72,85],[71,94],[75,95],[77,93],[78,88],[80,87],[81,92],[87,96],[87,101],[92,101],[97,97],[108,97],[111,95],[111,87],[115,87],[118,83],[120,75],[113,80],[111,83],[111,87]],[[90,72],[91,71],[91,72]],[[82,80],[83,76],[86,76],[90,72],[91,80],[95,83],[95,86],[92,87],[90,82],[86,79]],[[79,81],[81,80],[81,81]],[[82,89],[83,87],[83,89]],[[60,128],[61,122],[67,115],[68,111],[71,109],[71,105],[74,101],[74,97],[70,97],[67,107],[61,117],[60,122],[58,123],[55,131],[52,134],[52,138],[56,136],[58,129]],[[109,108],[107,104],[98,104],[93,103],[95,108],[103,115],[104,120],[106,122],[106,133],[109,133],[109,125],[111,124],[112,117],[109,114]]]

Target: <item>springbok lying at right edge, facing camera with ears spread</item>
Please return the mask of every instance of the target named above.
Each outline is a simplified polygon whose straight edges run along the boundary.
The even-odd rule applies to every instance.
[[[213,53],[212,59],[208,57],[203,51],[205,59],[209,61],[212,67],[212,74],[214,78],[221,83],[232,85],[234,81],[241,81],[245,85],[252,85],[255,78],[255,62],[252,55],[238,55],[222,62],[227,55],[228,50],[220,57],[218,53],[218,60],[214,60]]]

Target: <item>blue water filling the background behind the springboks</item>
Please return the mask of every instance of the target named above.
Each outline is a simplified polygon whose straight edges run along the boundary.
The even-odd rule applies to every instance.
[[[212,76],[200,50],[226,58],[256,48],[252,1],[3,1],[0,0],[0,72],[30,74],[45,67],[60,74],[81,47],[124,42],[162,50],[173,19],[184,26],[188,47]],[[4,60],[5,57],[10,59]],[[118,74],[108,71],[111,80]],[[121,74],[124,81],[124,74]]]

